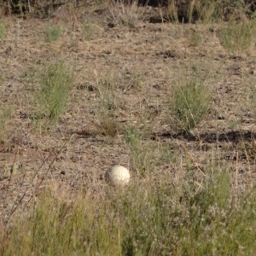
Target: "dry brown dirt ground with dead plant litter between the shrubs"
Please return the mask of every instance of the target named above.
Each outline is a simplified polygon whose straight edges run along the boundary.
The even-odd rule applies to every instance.
[[[218,24],[212,29],[145,20],[131,28],[109,26],[107,16],[108,10],[91,9],[45,20],[3,17],[7,33],[0,41],[0,102],[13,110],[8,136],[0,144],[3,220],[21,198],[24,203],[36,195],[38,186],[63,183],[74,193],[79,188],[91,193],[104,189],[102,175],[110,166],[131,164],[124,138],[129,125],[146,134],[145,147],[154,148],[155,154],[163,147],[176,154],[176,162],[157,164],[159,172],[175,173],[180,168],[204,172],[216,160],[234,176],[234,189],[245,189],[255,178],[255,47],[249,54],[228,54],[219,44]],[[95,28],[87,39],[85,22]],[[48,43],[45,29],[56,24],[63,34]],[[202,37],[199,45],[195,45],[195,32]],[[33,70],[55,61],[72,66],[76,79],[67,113],[55,132],[40,134],[33,130],[30,118]],[[199,138],[177,135],[168,123],[173,85],[189,79],[191,70],[206,77],[212,97],[207,117],[194,131]],[[102,80],[113,83],[113,115],[119,124],[114,137],[99,129],[97,86]],[[52,153],[63,145],[48,169],[55,158]],[[137,177],[133,170],[131,177]]]

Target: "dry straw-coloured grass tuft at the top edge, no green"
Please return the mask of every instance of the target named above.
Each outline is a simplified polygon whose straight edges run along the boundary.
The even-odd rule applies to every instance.
[[[137,0],[118,0],[111,4],[110,13],[114,23],[134,27],[143,20],[144,10],[140,9]]]

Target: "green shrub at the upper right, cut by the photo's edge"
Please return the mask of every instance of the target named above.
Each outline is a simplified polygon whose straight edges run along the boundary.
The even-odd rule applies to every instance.
[[[256,19],[235,20],[231,19],[226,26],[218,32],[220,44],[231,54],[242,53],[252,49],[256,39]]]

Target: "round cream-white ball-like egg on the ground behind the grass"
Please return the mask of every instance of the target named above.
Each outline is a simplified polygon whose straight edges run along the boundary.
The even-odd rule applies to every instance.
[[[124,166],[113,166],[106,177],[114,185],[125,185],[130,181],[130,172]]]

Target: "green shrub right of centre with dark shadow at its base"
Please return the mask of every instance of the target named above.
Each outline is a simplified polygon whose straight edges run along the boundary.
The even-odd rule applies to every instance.
[[[206,116],[209,109],[209,93],[201,82],[191,80],[177,86],[172,102],[171,126],[175,131],[189,133]]]

